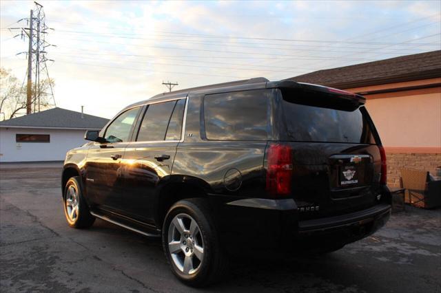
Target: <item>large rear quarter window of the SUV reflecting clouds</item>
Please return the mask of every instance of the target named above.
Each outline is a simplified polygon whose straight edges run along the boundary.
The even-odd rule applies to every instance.
[[[268,105],[262,89],[205,96],[207,139],[267,140]]]

